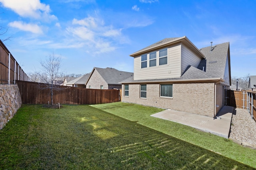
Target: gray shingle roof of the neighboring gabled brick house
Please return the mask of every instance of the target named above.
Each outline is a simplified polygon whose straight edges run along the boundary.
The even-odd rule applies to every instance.
[[[133,77],[133,72],[119,71],[115,68],[98,68],[94,67],[95,70],[104,78],[108,84],[120,84],[119,82],[125,80],[126,78]]]

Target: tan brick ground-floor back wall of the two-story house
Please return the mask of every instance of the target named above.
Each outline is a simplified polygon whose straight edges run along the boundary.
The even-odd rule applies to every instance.
[[[122,85],[122,102],[142,104],[186,111],[199,115],[214,114],[214,83],[173,84],[173,98],[160,97],[160,84],[147,84],[147,98],[140,98],[140,84],[129,84],[129,96],[124,96]]]

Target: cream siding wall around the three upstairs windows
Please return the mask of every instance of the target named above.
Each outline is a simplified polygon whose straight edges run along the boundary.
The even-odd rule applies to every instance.
[[[134,57],[134,80],[160,79],[160,78],[178,78],[181,76],[181,45],[168,47],[168,61],[165,65],[159,66],[159,58],[154,67],[141,68],[141,57]],[[158,52],[157,52],[158,53]],[[149,57],[148,57],[149,61]]]

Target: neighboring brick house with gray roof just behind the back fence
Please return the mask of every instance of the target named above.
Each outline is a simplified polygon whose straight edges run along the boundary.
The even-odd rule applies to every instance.
[[[119,71],[109,67],[94,67],[85,85],[86,88],[93,89],[120,89],[122,84],[119,82],[132,76],[132,72]]]

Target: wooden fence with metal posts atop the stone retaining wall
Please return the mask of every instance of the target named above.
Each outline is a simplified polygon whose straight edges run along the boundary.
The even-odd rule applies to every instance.
[[[10,51],[0,40],[0,84],[15,84],[16,80],[30,81]]]

